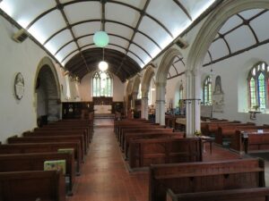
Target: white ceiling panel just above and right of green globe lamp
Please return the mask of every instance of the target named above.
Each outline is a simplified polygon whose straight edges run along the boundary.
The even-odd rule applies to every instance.
[[[106,31],[111,34],[116,34],[118,36],[130,39],[134,33],[133,29],[130,29],[124,25],[117,23],[106,23]]]

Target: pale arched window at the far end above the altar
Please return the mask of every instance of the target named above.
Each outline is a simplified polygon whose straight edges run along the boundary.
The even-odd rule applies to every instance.
[[[96,71],[92,76],[92,96],[112,96],[112,79],[107,71]]]

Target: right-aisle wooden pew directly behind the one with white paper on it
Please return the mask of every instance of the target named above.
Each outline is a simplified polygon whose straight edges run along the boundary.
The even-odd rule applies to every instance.
[[[245,126],[256,125],[253,122],[220,124],[217,132],[215,133],[215,143],[222,145],[223,138],[230,139],[234,135],[237,128]]]

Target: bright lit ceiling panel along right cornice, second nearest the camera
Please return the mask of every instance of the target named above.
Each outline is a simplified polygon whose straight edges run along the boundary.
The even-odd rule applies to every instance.
[[[178,4],[173,1],[151,1],[146,12],[158,21],[161,21],[174,38],[178,37],[182,30],[187,28],[191,22],[187,15],[178,7]]]

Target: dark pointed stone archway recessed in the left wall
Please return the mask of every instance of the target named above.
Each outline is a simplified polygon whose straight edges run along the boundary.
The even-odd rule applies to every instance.
[[[57,121],[61,117],[60,88],[55,65],[48,57],[39,62],[34,86],[38,124]]]

